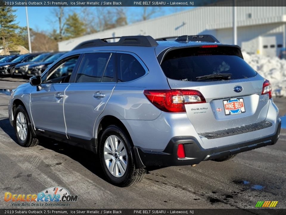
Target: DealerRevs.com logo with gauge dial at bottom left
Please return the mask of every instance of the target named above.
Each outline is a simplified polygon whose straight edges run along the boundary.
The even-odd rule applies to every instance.
[[[68,190],[61,187],[50,187],[38,194],[4,193],[4,201],[11,202],[12,206],[70,206],[76,202],[78,196],[72,196]]]

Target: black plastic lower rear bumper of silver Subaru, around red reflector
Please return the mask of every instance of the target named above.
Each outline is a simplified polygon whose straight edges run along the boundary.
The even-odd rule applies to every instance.
[[[280,128],[281,120],[279,119],[276,132],[271,136],[210,149],[203,149],[198,140],[192,136],[173,137],[163,152],[144,151],[139,147],[134,147],[137,166],[193,165],[201,161],[212,160],[267,145],[273,145],[279,138]],[[186,158],[177,157],[178,144],[184,144]]]

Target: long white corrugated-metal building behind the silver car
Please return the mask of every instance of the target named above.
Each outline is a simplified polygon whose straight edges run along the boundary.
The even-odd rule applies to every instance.
[[[275,1],[275,0],[274,0]],[[69,51],[81,42],[129,35],[164,38],[181,35],[212,34],[220,42],[233,44],[233,7],[195,7],[190,10],[140,21],[122,27],[65,40],[59,51]],[[236,7],[237,45],[248,53],[278,56],[285,47],[286,7]]]

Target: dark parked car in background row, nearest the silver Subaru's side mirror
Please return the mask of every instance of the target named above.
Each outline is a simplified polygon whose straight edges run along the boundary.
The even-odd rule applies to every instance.
[[[27,69],[27,72],[26,72],[25,76],[26,77],[32,77],[32,76],[41,75],[50,64],[55,62],[58,58],[60,58],[60,56],[62,56],[65,53],[66,52],[54,53],[52,56],[50,56],[49,58],[45,59],[45,61],[43,61],[43,62],[30,64],[28,66],[28,69]]]

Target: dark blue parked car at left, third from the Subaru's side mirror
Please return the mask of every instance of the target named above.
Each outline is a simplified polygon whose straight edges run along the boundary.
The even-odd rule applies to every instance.
[[[11,75],[15,72],[15,66],[19,63],[29,62],[41,53],[24,54],[13,59],[11,62],[6,62],[0,65],[0,75]]]

